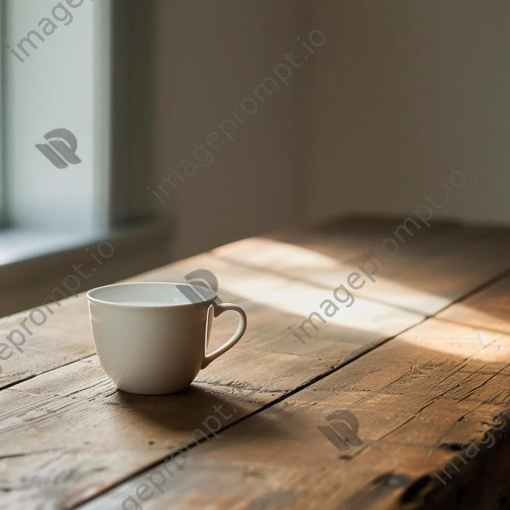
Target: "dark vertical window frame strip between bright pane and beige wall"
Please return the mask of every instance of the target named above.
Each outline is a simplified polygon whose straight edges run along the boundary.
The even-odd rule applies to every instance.
[[[147,190],[155,165],[155,4],[112,0],[111,179],[126,183],[125,193],[110,188],[113,225],[157,215]]]

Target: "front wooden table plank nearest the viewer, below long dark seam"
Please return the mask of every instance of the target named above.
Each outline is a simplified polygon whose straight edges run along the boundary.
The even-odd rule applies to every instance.
[[[510,420],[494,415],[510,400],[509,295],[507,277],[221,431],[193,448],[163,494],[150,486],[144,510],[503,508]],[[328,421],[337,410],[359,429]],[[318,430],[335,421],[361,444],[339,450]],[[83,510],[120,508],[154,469]]]

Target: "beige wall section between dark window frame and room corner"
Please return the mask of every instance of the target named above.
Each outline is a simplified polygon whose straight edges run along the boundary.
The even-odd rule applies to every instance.
[[[153,188],[298,48],[312,28],[292,0],[157,1],[156,160]],[[235,141],[213,150],[165,203],[175,226],[172,257],[210,249],[299,221],[305,137],[305,84],[311,66],[295,69],[258,111],[238,110]],[[298,72],[299,71],[299,72]],[[248,105],[246,105],[248,106]],[[220,143],[219,141],[213,143]],[[199,157],[206,159],[201,156]],[[183,172],[181,171],[181,174]],[[150,193],[150,192],[149,192]]]

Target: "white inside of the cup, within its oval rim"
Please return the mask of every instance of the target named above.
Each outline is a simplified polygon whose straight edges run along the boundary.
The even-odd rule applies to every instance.
[[[205,303],[217,294],[208,287],[168,282],[106,285],[87,292],[89,301],[124,307],[175,307]]]

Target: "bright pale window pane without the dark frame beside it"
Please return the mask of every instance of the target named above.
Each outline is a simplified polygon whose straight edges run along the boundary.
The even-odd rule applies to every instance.
[[[90,233],[108,219],[109,0],[4,0],[9,224]]]

